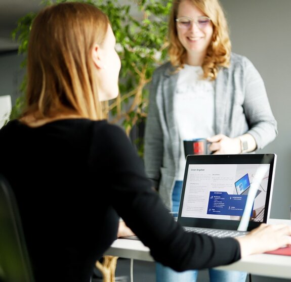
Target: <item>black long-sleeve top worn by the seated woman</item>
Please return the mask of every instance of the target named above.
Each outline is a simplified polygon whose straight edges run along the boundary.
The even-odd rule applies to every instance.
[[[65,119],[0,130],[0,173],[11,182],[38,281],[89,282],[116,239],[118,216],[175,270],[240,258],[234,239],[186,233],[151,189],[143,162],[121,128]]]

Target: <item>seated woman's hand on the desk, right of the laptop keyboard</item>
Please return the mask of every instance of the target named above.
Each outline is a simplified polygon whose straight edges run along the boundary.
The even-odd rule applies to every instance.
[[[273,251],[291,245],[291,226],[262,223],[246,236],[238,237],[236,240],[239,242],[242,258],[252,254]]]

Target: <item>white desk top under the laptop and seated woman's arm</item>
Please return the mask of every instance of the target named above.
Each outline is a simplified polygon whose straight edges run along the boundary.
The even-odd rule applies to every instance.
[[[270,219],[270,224],[275,223],[291,225],[290,220]],[[105,255],[153,261],[153,258],[149,253],[149,248],[145,247],[142,242],[138,240],[117,239],[106,251]],[[291,256],[278,256],[270,254],[252,255],[235,263],[217,268],[223,270],[245,271],[263,276],[291,278]]]

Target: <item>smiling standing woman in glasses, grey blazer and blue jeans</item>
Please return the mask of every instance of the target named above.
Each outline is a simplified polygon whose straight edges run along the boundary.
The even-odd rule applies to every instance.
[[[213,154],[261,149],[277,135],[264,82],[245,57],[231,53],[218,0],[175,0],[169,23],[170,62],[152,78],[145,132],[147,175],[164,204],[178,212],[184,139],[208,137]],[[157,282],[195,281],[157,264]],[[212,281],[244,281],[246,273],[210,270]]]

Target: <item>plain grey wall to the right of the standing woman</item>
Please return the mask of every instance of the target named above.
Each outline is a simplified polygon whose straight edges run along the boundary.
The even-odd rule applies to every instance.
[[[230,26],[232,51],[250,59],[263,77],[277,138],[258,153],[277,154],[272,218],[290,219],[291,205],[291,1],[220,0]]]

